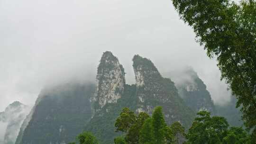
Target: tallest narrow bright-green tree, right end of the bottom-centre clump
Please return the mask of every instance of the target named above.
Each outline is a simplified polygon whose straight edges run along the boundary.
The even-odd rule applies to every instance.
[[[165,143],[165,118],[162,112],[162,107],[155,107],[155,110],[152,115],[152,126],[154,129],[155,142],[156,144]]]

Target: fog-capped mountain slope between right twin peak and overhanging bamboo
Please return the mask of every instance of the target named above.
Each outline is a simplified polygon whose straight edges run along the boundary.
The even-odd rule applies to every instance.
[[[207,110],[213,115],[225,117],[230,126],[243,125],[241,112],[236,108],[237,99],[231,96],[230,101],[225,105],[214,104],[206,85],[191,67],[168,72],[165,75],[174,80],[179,95],[193,110]]]

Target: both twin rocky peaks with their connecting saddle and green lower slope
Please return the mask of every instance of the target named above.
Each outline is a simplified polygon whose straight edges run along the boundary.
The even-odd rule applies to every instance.
[[[94,117],[85,126],[100,144],[112,144],[113,139],[121,135],[115,132],[115,120],[122,108],[139,112],[148,112],[156,106],[162,106],[165,119],[170,125],[174,121],[188,127],[195,112],[188,108],[178,96],[174,82],[163,78],[155,65],[148,59],[135,55],[133,58],[136,84],[125,84],[125,72],[118,58],[105,52],[98,66],[97,91],[94,97]]]

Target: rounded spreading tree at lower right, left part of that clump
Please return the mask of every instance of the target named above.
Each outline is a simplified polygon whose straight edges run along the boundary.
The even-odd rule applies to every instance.
[[[200,111],[193,121],[187,144],[221,144],[227,135],[229,124],[224,117],[210,117],[210,112]]]

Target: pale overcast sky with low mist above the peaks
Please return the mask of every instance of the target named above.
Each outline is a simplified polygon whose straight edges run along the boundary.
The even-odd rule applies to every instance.
[[[104,51],[119,58],[134,83],[132,57],[160,72],[192,66],[215,103],[229,100],[215,60],[195,42],[171,0],[0,0],[0,111],[33,105],[44,85],[95,80]]]

